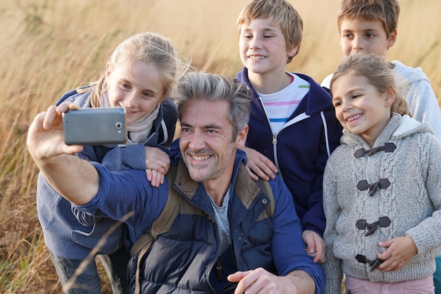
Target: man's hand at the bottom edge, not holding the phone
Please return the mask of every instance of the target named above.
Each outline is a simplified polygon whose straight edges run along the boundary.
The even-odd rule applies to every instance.
[[[316,285],[304,271],[292,271],[287,276],[275,276],[265,269],[237,271],[228,276],[228,281],[237,282],[235,294],[296,294],[315,293]]]

